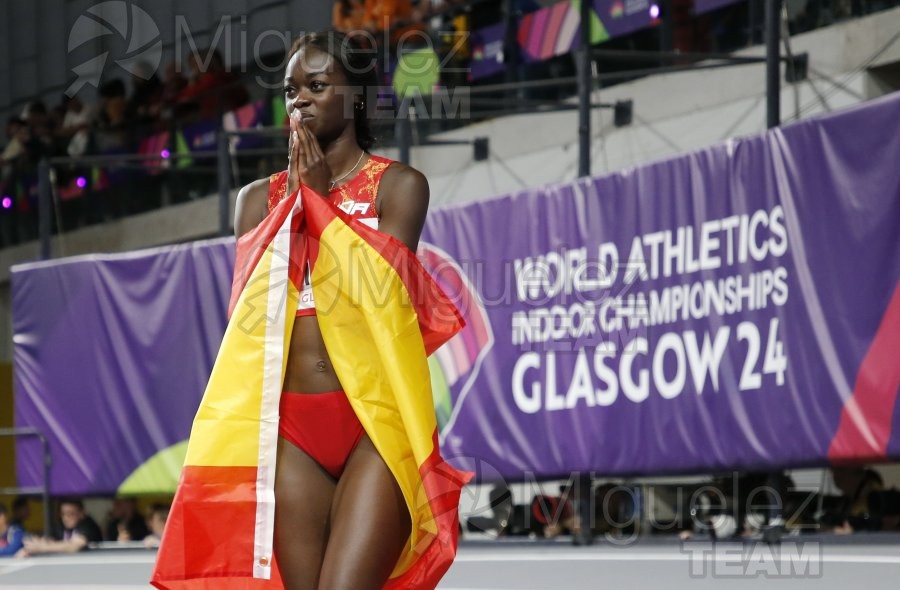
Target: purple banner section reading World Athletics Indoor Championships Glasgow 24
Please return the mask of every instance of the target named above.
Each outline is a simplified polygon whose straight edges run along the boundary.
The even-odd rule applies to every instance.
[[[447,456],[511,478],[900,456],[898,117],[900,94],[430,215],[426,262],[487,327],[437,353]]]

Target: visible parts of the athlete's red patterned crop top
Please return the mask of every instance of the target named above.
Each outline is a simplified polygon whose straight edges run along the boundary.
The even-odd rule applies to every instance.
[[[328,193],[332,202],[351,217],[359,219],[369,227],[378,229],[378,212],[375,211],[375,198],[378,196],[378,185],[381,176],[393,160],[369,155],[362,169],[349,182],[336,186]],[[268,209],[271,213],[278,203],[287,196],[287,170],[269,177]],[[300,302],[297,304],[297,315],[315,315],[316,307],[312,288],[309,283],[309,265],[303,276],[300,289]]]

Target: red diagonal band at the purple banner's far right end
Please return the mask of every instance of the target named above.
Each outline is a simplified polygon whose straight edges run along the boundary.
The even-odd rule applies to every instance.
[[[853,395],[844,403],[841,421],[828,449],[828,459],[878,461],[887,455],[891,419],[900,388],[900,283],[866,353]]]

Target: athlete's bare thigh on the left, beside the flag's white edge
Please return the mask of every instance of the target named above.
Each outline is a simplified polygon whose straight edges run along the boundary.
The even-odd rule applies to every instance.
[[[275,559],[286,590],[315,590],[335,481],[309,455],[278,439],[275,475]]]

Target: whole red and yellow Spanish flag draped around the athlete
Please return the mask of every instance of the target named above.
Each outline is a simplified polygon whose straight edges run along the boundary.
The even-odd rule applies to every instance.
[[[453,561],[470,474],[440,455],[427,356],[462,318],[404,244],[304,186],[238,241],[230,320],[191,430],[157,588],[283,587],[273,552],[278,403],[307,260],[335,372],[412,519],[385,588],[434,588]]]

